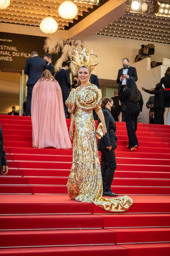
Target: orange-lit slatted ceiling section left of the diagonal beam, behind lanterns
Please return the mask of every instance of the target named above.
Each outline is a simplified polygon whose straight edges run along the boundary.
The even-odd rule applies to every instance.
[[[77,16],[72,20],[65,20],[58,14],[58,8],[65,0],[11,0],[10,6],[0,10],[0,22],[14,23],[20,25],[40,26],[43,18],[50,15],[57,21],[59,29],[67,29],[70,23],[78,20],[78,17],[85,15],[93,9],[88,3],[75,3],[78,8]]]

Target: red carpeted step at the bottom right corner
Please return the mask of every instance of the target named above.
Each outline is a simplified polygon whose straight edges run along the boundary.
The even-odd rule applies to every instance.
[[[128,256],[170,255],[170,243],[122,244],[121,247],[128,249]]]

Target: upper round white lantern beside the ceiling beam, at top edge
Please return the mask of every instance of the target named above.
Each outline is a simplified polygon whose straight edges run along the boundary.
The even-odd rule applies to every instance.
[[[75,3],[66,0],[59,6],[58,13],[63,19],[71,20],[76,17],[78,8]]]

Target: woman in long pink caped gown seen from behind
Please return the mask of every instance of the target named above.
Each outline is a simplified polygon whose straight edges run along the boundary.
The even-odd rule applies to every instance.
[[[71,148],[62,91],[49,70],[34,85],[31,120],[33,148]]]

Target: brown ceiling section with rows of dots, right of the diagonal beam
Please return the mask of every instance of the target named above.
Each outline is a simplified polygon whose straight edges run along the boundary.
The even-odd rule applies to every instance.
[[[170,17],[127,13],[96,34],[170,44]]]

